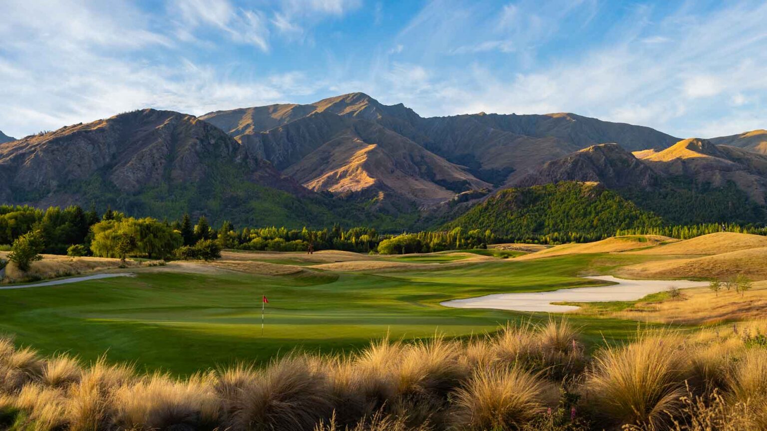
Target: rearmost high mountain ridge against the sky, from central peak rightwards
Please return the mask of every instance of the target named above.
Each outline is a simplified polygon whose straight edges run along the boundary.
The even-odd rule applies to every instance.
[[[663,150],[676,138],[649,127],[609,123],[575,114],[499,115],[471,114],[423,118],[403,104],[384,105],[363,93],[344,94],[314,104],[279,104],[216,111],[201,118],[222,128],[241,143],[262,151],[278,169],[306,156],[291,148],[317,148],[312,140],[327,143],[328,115],[377,123],[424,149],[441,156],[486,183],[502,185],[509,176],[520,176],[576,150],[598,143],[621,143],[629,150]],[[291,145],[264,141],[272,129],[301,123]],[[515,173],[516,172],[516,173]]]

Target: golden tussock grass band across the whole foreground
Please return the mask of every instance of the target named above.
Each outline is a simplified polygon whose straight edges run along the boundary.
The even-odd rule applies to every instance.
[[[758,325],[757,325],[758,326]],[[5,429],[765,429],[767,350],[736,327],[585,353],[567,321],[453,341],[293,352],[185,379],[0,341]]]

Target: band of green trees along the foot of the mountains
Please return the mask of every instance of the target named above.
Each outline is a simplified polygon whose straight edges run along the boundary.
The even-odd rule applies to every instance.
[[[558,201],[555,206],[571,206],[574,199],[571,192],[572,190],[565,190],[565,194],[560,197],[566,199],[555,199]],[[606,197],[609,199],[604,199]],[[599,205],[589,208],[581,213],[581,216],[593,215],[592,209],[618,208],[616,204],[619,201],[615,200],[614,196],[597,196],[594,200],[599,202]],[[506,214],[505,229],[501,232],[447,225],[446,229],[436,231],[382,233],[362,226],[343,229],[341,225],[324,229],[304,227],[300,230],[275,226],[243,226],[238,229],[231,222],[223,222],[219,227],[214,227],[205,216],[193,221],[189,215],[184,215],[181,219],[168,221],[151,217],[137,219],[111,209],[107,209],[103,215],[98,215],[93,209],[85,211],[80,206],[50,207],[45,210],[31,206],[0,206],[0,250],[12,251],[9,258],[18,258],[27,263],[34,262],[40,253],[93,255],[123,260],[127,257],[207,260],[217,258],[223,248],[270,252],[314,252],[334,249],[362,253],[407,254],[486,248],[487,245],[503,242],[588,242],[612,235],[649,234],[690,239],[720,231],[767,234],[767,229],[755,225],[657,225],[656,219],[645,219],[644,214],[637,213],[636,209],[630,209],[628,214],[638,216],[635,221],[642,222],[634,227],[614,229],[610,232],[604,230],[604,226],[598,226],[597,230],[585,229],[588,225],[582,222],[568,226],[584,228],[582,230],[557,231],[553,229],[557,229],[560,223],[554,219],[539,220],[533,223],[536,229],[532,229],[531,221],[525,219],[531,217],[532,213],[525,212],[522,215]],[[501,218],[502,214],[498,213],[495,216]],[[591,225],[598,225],[606,219],[616,220],[619,216],[627,216],[625,209],[594,216]],[[607,222],[607,225],[614,223]],[[509,229],[509,226],[514,226],[514,229]]]

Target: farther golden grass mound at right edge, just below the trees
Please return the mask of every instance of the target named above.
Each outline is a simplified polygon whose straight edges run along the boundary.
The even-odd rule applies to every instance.
[[[716,232],[679,242],[627,252],[632,255],[719,255],[748,248],[767,247],[767,236],[736,232]]]

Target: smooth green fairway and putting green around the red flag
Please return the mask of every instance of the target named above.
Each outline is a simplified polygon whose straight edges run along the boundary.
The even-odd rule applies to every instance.
[[[334,353],[387,333],[406,339],[437,331],[469,336],[508,320],[545,319],[545,314],[445,308],[439,302],[596,285],[576,277],[595,259],[509,259],[380,274],[144,272],[136,278],[0,290],[0,333],[15,334],[18,343],[45,354],[70,351],[93,360],[107,352],[110,360],[140,368],[193,373],[238,360],[268,360],[295,347]],[[269,300],[263,336],[262,294]],[[633,321],[571,320],[591,341],[624,339],[637,331]]]

